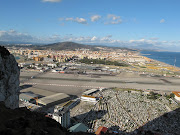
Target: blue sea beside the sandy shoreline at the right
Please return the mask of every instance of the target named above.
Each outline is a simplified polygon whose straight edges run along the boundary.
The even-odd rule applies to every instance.
[[[180,52],[141,51],[141,55],[170,65],[180,67]]]

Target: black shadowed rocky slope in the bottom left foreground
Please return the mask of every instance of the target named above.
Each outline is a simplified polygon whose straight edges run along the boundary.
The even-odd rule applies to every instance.
[[[0,135],[87,135],[70,133],[44,114],[25,108],[8,109],[0,102]]]

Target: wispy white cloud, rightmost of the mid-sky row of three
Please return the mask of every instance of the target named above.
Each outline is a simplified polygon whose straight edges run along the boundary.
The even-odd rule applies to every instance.
[[[108,21],[105,22],[105,24],[120,24],[120,23],[122,23],[121,17],[114,15],[114,14],[108,14],[107,19],[108,19]]]

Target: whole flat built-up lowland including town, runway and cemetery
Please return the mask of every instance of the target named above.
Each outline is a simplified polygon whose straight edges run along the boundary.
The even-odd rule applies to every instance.
[[[179,107],[176,67],[126,49],[8,49],[21,69],[20,107],[43,112],[70,132],[174,130],[152,121]]]

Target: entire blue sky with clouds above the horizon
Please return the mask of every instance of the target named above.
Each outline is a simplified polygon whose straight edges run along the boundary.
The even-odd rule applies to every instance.
[[[179,6],[179,0],[0,0],[0,41],[180,51]]]

